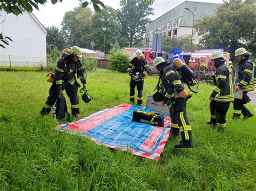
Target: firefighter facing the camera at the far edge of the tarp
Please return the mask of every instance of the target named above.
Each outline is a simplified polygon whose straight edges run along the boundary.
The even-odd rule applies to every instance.
[[[149,73],[149,65],[147,64],[147,61],[143,58],[143,53],[140,49],[136,51],[136,57],[130,61],[127,72],[131,76],[130,103],[134,103],[135,87],[137,86],[137,105],[141,105],[143,102],[143,84],[145,77],[147,77]]]

